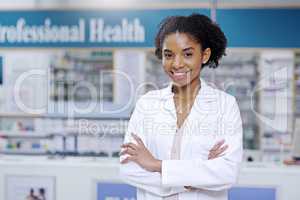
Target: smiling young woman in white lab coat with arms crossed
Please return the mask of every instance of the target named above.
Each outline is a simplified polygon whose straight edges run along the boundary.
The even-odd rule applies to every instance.
[[[121,151],[120,175],[138,200],[227,199],[242,161],[240,112],[233,96],[200,79],[226,43],[204,15],[161,23],[155,53],[171,83],[138,100]]]

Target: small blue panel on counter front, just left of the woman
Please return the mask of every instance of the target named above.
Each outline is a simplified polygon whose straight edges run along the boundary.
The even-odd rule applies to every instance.
[[[136,188],[122,183],[97,183],[97,200],[136,200]]]

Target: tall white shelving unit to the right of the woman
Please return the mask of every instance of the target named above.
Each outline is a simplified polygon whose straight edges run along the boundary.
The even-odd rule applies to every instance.
[[[260,151],[266,162],[289,158],[294,123],[294,52],[267,51],[260,54]]]

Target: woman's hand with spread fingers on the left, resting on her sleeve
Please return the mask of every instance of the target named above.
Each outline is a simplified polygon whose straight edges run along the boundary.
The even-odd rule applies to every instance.
[[[127,155],[127,157],[121,161],[121,164],[132,161],[147,171],[161,172],[161,160],[153,157],[151,152],[144,145],[141,138],[133,133],[131,133],[131,135],[137,144],[129,142],[121,145],[124,150],[121,151],[120,155]]]

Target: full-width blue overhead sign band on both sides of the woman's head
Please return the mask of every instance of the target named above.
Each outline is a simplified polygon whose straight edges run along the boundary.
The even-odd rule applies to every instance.
[[[160,21],[209,9],[0,11],[1,47],[153,47]],[[300,8],[218,9],[230,47],[300,48]],[[288,36],[288,37],[287,37]]]

